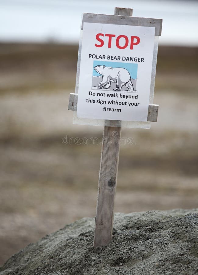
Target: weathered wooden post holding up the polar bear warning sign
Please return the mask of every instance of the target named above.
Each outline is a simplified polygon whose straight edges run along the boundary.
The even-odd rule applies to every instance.
[[[115,15],[132,16],[133,9],[115,8]],[[118,123],[115,121],[115,123]],[[121,126],[121,122],[120,122]],[[104,126],[94,247],[107,245],[112,238],[115,191],[119,162],[121,127]]]

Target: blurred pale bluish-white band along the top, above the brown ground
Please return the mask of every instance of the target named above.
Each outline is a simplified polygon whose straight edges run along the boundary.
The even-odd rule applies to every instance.
[[[161,45],[198,46],[198,2],[181,0],[1,0],[0,41],[77,43],[83,12],[113,14],[114,7],[163,19]]]

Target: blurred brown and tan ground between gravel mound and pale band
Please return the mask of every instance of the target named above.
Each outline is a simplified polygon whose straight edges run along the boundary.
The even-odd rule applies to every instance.
[[[77,47],[42,47],[0,45],[0,265],[45,234],[95,216],[101,145],[82,141],[100,143],[103,129],[73,125],[67,111]],[[183,71],[184,52],[159,49],[157,123],[122,129],[133,144],[121,145],[116,212],[198,206],[197,68]]]

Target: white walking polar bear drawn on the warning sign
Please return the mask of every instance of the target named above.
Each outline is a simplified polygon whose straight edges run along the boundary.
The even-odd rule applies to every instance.
[[[116,88],[114,90],[120,91],[122,87],[126,85],[127,91],[134,91],[131,76],[125,68],[97,65],[94,67],[94,70],[102,75],[102,81],[98,84],[98,88],[108,89],[111,86],[111,82],[116,82]]]

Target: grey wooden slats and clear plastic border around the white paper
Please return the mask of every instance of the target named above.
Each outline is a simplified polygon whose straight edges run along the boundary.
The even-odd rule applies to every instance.
[[[74,124],[84,124],[84,125],[101,125],[101,126],[118,126],[118,127],[130,127],[130,128],[150,128],[150,121],[155,121],[152,119],[154,112],[156,111],[156,105],[153,105],[154,97],[154,82],[155,82],[155,71],[157,63],[157,49],[158,49],[158,36],[161,35],[162,20],[154,18],[142,18],[142,17],[133,17],[129,16],[129,9],[123,9],[126,13],[121,15],[121,9],[119,15],[105,15],[105,14],[93,14],[93,13],[84,13],[82,17],[81,24],[81,35],[79,43],[79,55],[78,55],[78,64],[77,64],[77,74],[76,74],[76,91],[75,95],[71,94],[70,102],[72,101],[72,106],[69,105],[69,109],[74,111],[73,114],[73,123]],[[151,84],[150,84],[150,99],[148,106],[148,118],[147,121],[132,121],[132,119],[127,121],[118,121],[108,120],[108,119],[86,119],[77,117],[77,102],[78,102],[78,82],[80,78],[80,61],[81,61],[81,51],[82,51],[82,35],[83,35],[83,24],[84,23],[101,23],[101,24],[110,24],[110,25],[128,25],[128,26],[141,26],[141,27],[155,27],[155,41],[154,41],[154,51],[153,51],[153,64],[151,72]],[[154,116],[157,118],[156,114]]]

